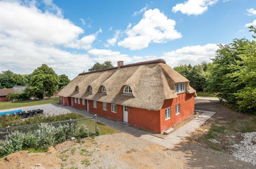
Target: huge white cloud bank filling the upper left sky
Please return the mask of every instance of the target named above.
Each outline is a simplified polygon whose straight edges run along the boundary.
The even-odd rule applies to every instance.
[[[31,73],[36,67],[47,64],[57,74],[73,78],[93,65],[89,55],[61,48],[90,49],[102,30],[80,38],[84,33],[82,28],[64,19],[62,10],[52,1],[45,1],[45,4],[45,11],[42,11],[35,3],[0,1],[2,71],[10,69],[15,73]]]

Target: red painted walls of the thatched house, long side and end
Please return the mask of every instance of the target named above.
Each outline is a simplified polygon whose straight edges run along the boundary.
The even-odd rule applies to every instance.
[[[60,97],[60,103],[63,100]],[[180,114],[175,114],[175,105],[180,105]],[[65,105],[71,105],[71,97],[65,98]],[[73,107],[77,109],[87,110],[87,100],[85,105],[75,103],[73,98]],[[171,108],[171,118],[165,120],[165,110]],[[111,103],[107,103],[107,111],[103,110],[103,102],[97,101],[97,108],[93,108],[93,100],[89,100],[89,111],[93,114],[101,115],[113,120],[123,121],[123,105],[116,104],[116,113],[111,112]],[[194,95],[182,93],[177,98],[167,99],[164,101],[160,111],[149,111],[140,108],[128,107],[128,123],[139,126],[156,133],[162,133],[171,128],[174,124],[181,122],[194,112]]]

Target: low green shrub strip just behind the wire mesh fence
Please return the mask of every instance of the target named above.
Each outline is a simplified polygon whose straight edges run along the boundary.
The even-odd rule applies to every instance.
[[[26,119],[22,119],[21,117],[18,117],[18,116],[0,116],[0,128],[6,128],[8,125],[17,126],[17,125],[27,125],[27,124],[39,124],[39,123],[64,121],[64,120],[78,119],[78,118],[84,118],[84,117],[76,113],[69,113],[69,114],[57,115],[57,116],[36,115]]]

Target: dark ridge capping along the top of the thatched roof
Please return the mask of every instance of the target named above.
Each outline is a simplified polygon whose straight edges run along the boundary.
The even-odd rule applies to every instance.
[[[141,62],[136,62],[134,64],[123,65],[119,69],[127,68],[127,67],[132,67],[132,66],[150,65],[150,64],[166,64],[166,61],[164,59],[141,61]],[[113,70],[113,69],[117,69],[117,68],[118,67],[113,67],[113,68],[101,69],[101,70],[96,70],[96,71],[91,71],[91,72],[84,72],[84,73],[80,73],[78,75],[85,75],[85,74],[95,73],[95,72],[103,72],[103,71]]]

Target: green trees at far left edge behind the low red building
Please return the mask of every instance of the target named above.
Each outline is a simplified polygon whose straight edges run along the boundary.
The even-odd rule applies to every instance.
[[[25,75],[15,74],[12,71],[3,71],[0,73],[0,89],[12,88],[14,86],[26,86],[29,79]]]

